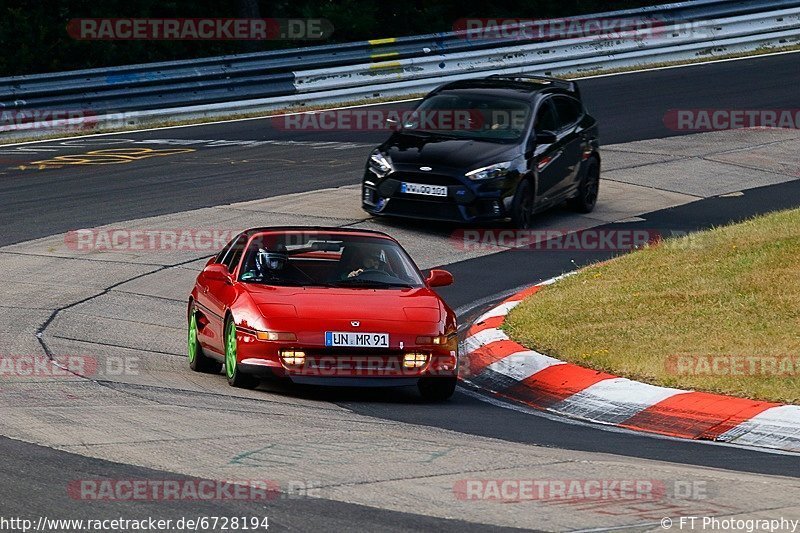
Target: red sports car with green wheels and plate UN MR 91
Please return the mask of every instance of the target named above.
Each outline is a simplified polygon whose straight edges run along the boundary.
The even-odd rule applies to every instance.
[[[455,313],[383,233],[257,228],[209,259],[189,298],[189,366],[252,388],[260,378],[345,386],[456,386]]]

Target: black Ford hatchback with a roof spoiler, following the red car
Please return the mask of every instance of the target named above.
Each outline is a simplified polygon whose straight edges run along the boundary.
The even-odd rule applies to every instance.
[[[373,215],[511,220],[519,228],[564,201],[588,213],[600,184],[597,136],[575,82],[495,75],[449,83],[370,155],[362,206]]]

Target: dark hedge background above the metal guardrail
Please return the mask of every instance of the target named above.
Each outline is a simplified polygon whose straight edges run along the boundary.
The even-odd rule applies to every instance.
[[[0,76],[106,67],[322,42],[76,41],[72,18],[309,17],[331,21],[325,42],[450,31],[459,18],[549,18],[626,9],[660,1],[600,0],[0,0]]]

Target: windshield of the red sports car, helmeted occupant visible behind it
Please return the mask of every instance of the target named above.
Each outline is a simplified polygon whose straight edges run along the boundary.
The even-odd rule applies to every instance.
[[[239,280],[278,286],[422,287],[414,263],[394,241],[316,231],[256,235]]]

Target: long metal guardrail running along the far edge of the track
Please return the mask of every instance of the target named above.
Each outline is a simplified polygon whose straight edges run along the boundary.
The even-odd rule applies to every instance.
[[[471,39],[449,32],[0,78],[0,110],[89,111],[110,125],[426,92],[447,81],[586,71],[800,42],[800,0],[694,0],[564,20],[639,17],[659,36]],[[691,24],[688,24],[691,22]]]

